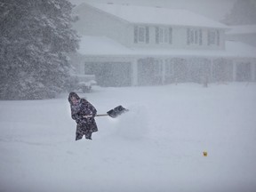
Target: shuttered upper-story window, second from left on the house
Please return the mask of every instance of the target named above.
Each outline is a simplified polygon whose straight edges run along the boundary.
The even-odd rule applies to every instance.
[[[172,28],[156,27],[156,44],[172,44]]]

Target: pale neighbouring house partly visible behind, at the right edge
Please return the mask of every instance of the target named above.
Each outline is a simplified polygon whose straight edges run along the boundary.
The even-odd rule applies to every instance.
[[[228,41],[244,42],[256,47],[256,25],[229,26],[226,33]]]

